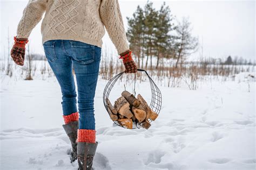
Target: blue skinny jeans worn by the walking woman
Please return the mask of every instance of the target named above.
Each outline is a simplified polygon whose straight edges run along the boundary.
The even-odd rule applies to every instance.
[[[73,40],[49,40],[43,44],[46,59],[62,90],[63,115],[77,112],[79,129],[95,130],[94,97],[102,48]]]

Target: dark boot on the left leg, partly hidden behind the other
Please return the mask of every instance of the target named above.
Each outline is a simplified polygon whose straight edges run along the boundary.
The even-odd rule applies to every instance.
[[[68,124],[62,125],[66,134],[70,139],[72,145],[72,152],[70,153],[70,162],[77,160],[77,130],[78,130],[78,121],[73,121]]]

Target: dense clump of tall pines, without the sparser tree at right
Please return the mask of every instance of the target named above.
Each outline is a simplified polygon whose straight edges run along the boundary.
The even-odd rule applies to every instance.
[[[144,67],[144,55],[146,55],[145,67],[147,68],[150,58],[157,57],[157,66],[160,58],[174,58],[177,55],[177,41],[174,36],[176,26],[169,6],[165,3],[160,10],[153,8],[153,3],[147,1],[144,8],[137,7],[131,18],[128,18],[127,38],[130,48],[137,56],[138,66]],[[142,61],[140,61],[142,60]]]

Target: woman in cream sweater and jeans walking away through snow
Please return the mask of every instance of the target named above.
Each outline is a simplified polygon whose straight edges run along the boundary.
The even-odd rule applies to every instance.
[[[93,102],[104,26],[123,59],[125,73],[137,72],[118,0],[30,0],[11,49],[11,57],[17,65],[24,65],[25,45],[44,13],[42,44],[62,91],[63,128],[72,144],[71,162],[78,159],[78,169],[92,169],[98,145]],[[72,68],[77,80],[78,111]]]

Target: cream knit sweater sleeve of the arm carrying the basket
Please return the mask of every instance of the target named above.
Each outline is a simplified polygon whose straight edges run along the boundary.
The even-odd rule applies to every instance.
[[[118,0],[102,0],[99,12],[118,54],[129,50]]]

